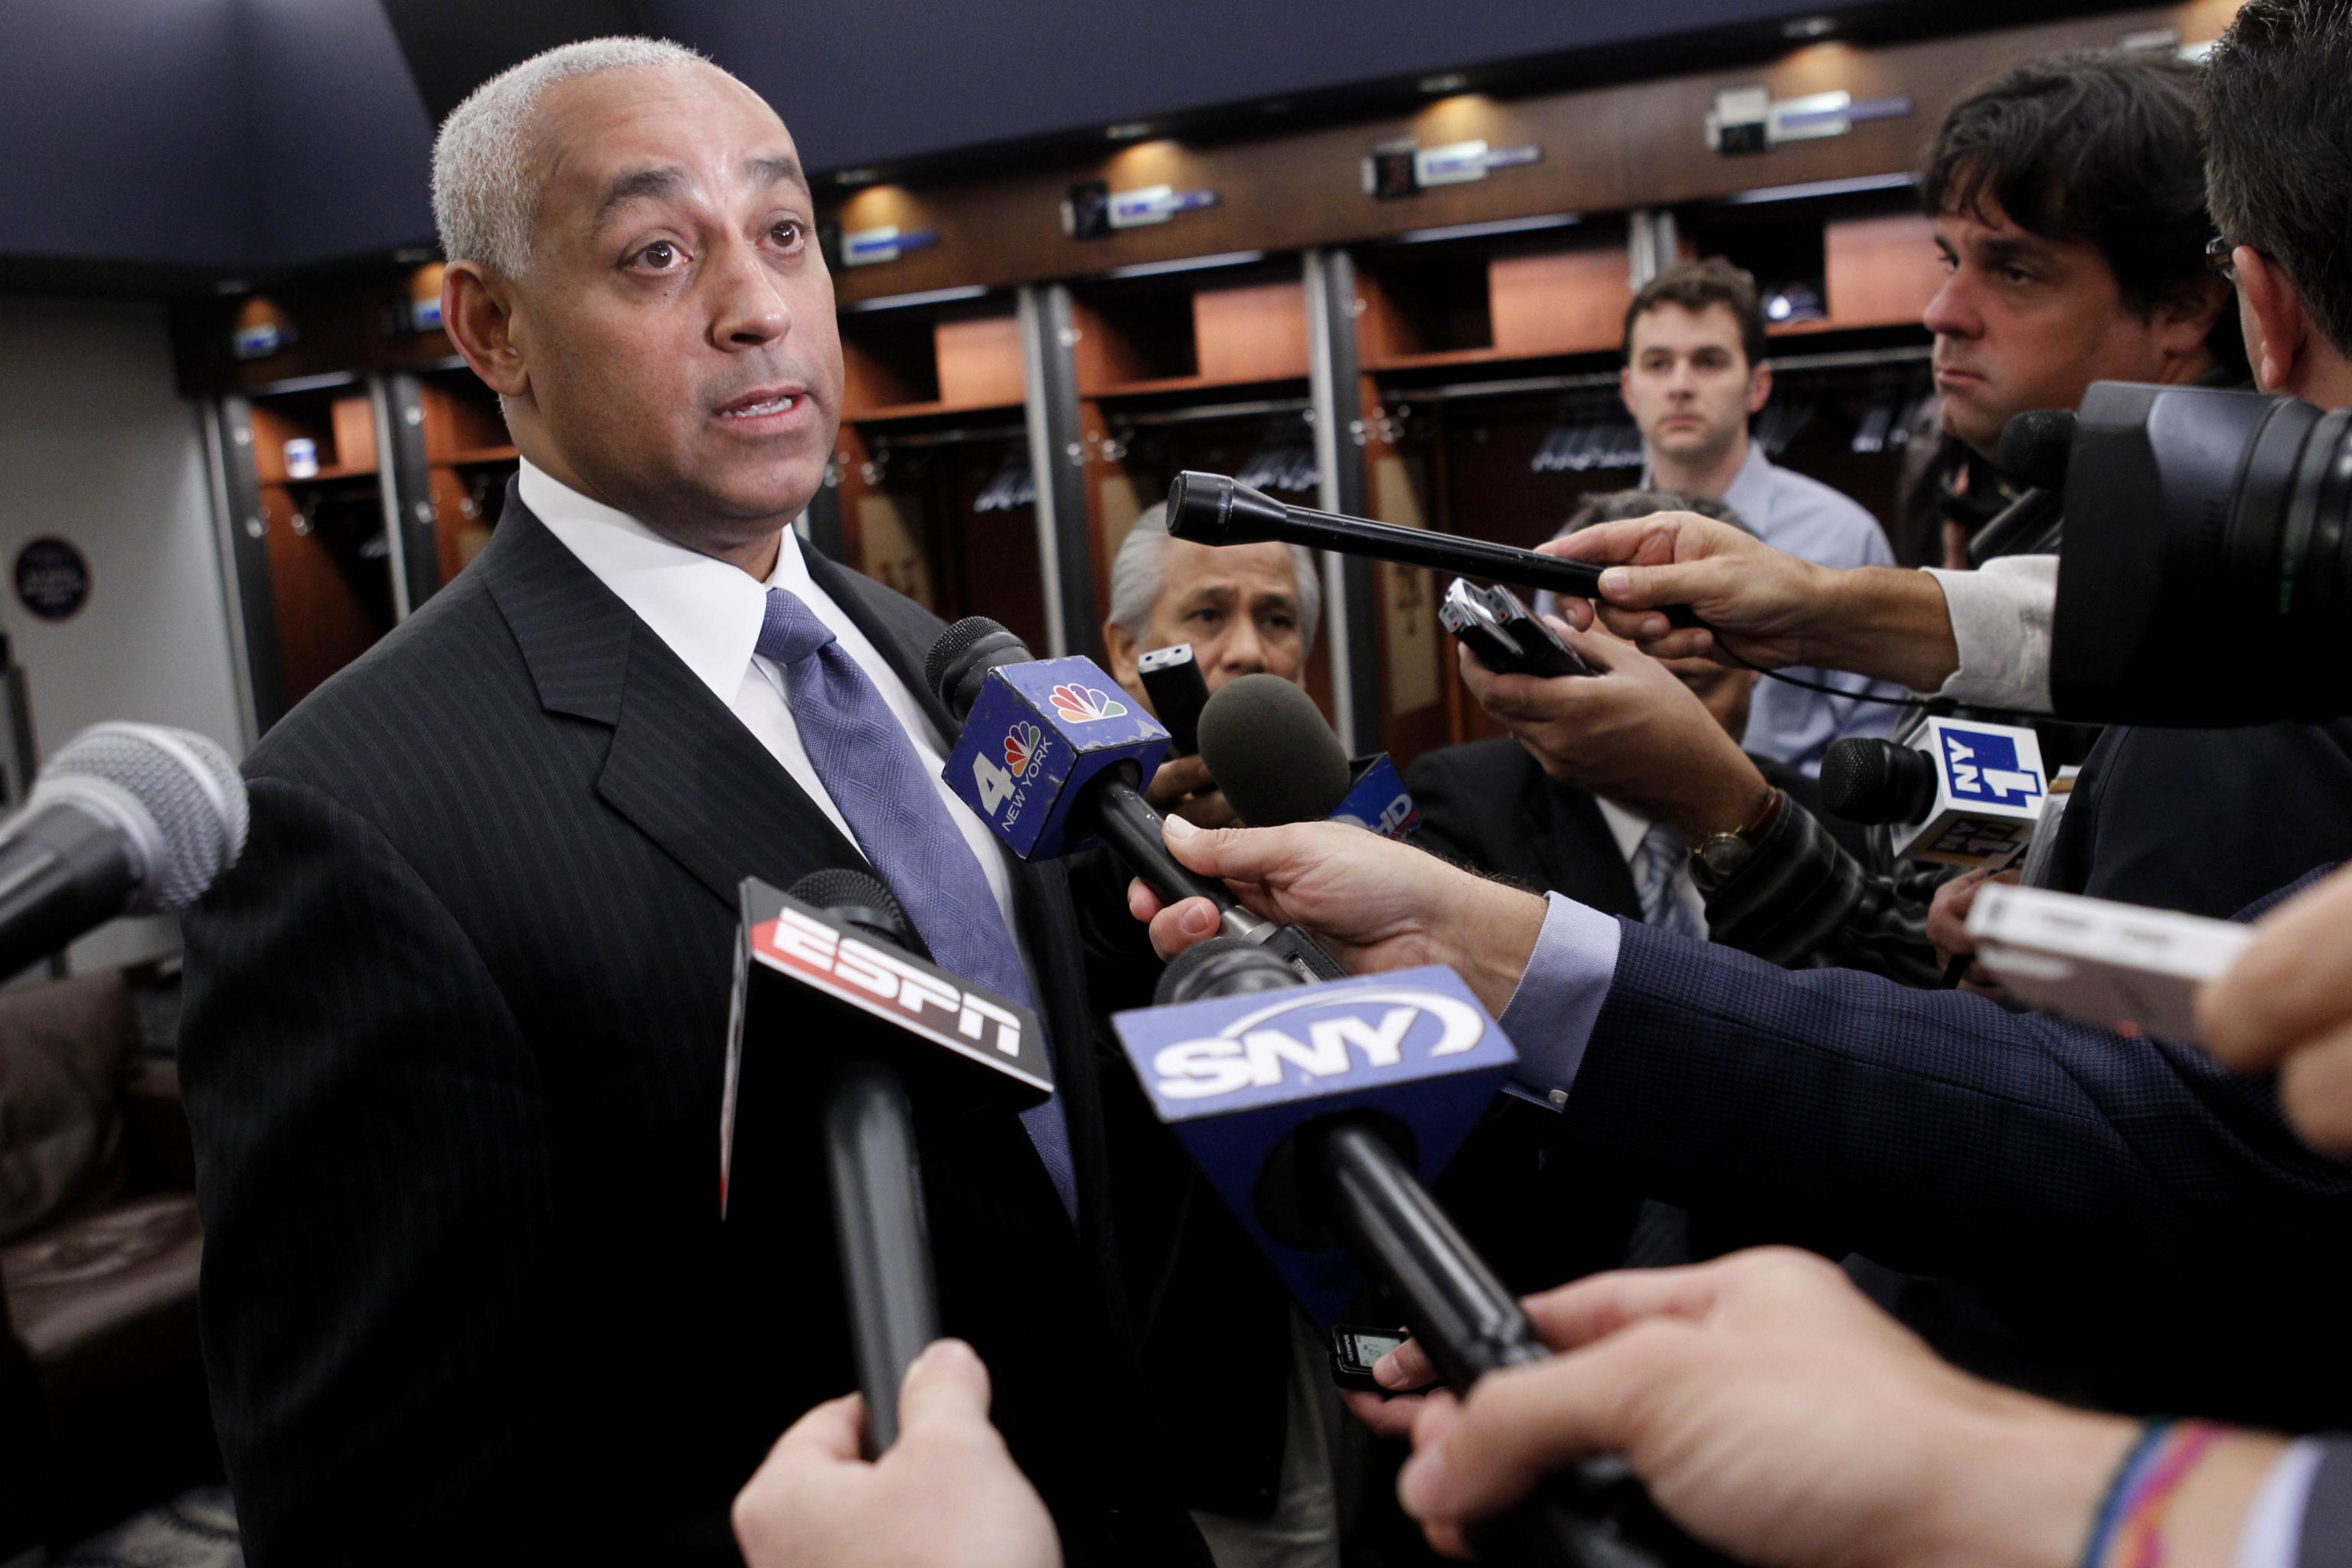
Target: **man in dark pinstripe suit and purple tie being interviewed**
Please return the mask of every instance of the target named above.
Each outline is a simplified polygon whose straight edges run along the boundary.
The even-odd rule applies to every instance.
[[[1068,893],[938,785],[938,621],[790,531],[842,390],[790,136],[675,45],[569,45],[452,115],[435,212],[515,498],[254,750],[245,860],[188,919],[247,1559],[736,1559],[731,1493],[854,1385],[816,1140],[739,1147],[720,1222],[736,886],[870,865],[1054,1048],[1051,1105],[922,1128],[946,1321],[1070,1561],[1202,1561],[1120,1441]]]

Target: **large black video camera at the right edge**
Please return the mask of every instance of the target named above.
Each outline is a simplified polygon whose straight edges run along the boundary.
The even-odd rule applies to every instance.
[[[2063,717],[2352,712],[2352,411],[2098,381],[2074,416],[2051,632]]]

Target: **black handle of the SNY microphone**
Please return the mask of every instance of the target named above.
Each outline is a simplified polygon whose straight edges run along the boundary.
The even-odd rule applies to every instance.
[[[1550,1359],[1517,1298],[1454,1227],[1395,1145],[1364,1119],[1310,1133],[1301,1157],[1324,1171],[1331,1227],[1348,1253],[1404,1305],[1414,1338],[1456,1394],[1505,1366]],[[1585,1460],[1545,1479],[1510,1514],[1472,1530],[1484,1561],[1557,1568],[1719,1563],[1618,1460]]]

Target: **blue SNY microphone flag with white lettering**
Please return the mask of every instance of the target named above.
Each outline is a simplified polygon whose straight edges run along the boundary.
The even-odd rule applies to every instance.
[[[1442,964],[1138,1009],[1112,1027],[1152,1112],[1324,1326],[1364,1276],[1336,1244],[1305,1251],[1268,1232],[1258,1213],[1268,1159],[1308,1121],[1371,1112],[1411,1133],[1414,1173],[1428,1185],[1519,1060]]]

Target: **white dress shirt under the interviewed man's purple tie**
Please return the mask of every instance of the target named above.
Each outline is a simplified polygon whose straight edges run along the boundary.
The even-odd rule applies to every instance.
[[[548,524],[548,534],[555,534],[604,588],[612,588],[677,654],[680,663],[696,679],[710,686],[710,693],[783,764],[793,783],[816,802],[816,809],[840,827],[842,837],[856,844],[858,835],[849,830],[842,809],[833,804],[826,780],[816,776],[816,766],[809,762],[809,748],[800,741],[786,672],[774,661],[753,651],[760,642],[760,625],[767,621],[767,590],[790,588],[809,607],[811,616],[833,628],[842,651],[858,663],[866,679],[875,684],[875,691],[882,693],[882,701],[898,717],[906,738],[915,745],[915,755],[931,776],[931,788],[938,790],[948,820],[964,835],[964,844],[971,846],[971,856],[981,863],[988,891],[995,893],[997,907],[1004,912],[1004,929],[1014,933],[1014,943],[1021,940],[1021,924],[1014,919],[1014,879],[1004,865],[1004,849],[988,825],[938,776],[948,762],[948,748],[938,731],[922,712],[922,705],[915,703],[915,693],[898,679],[898,672],[889,668],[889,661],[858,630],[856,621],[842,614],[833,595],[809,576],[809,562],[802,557],[800,536],[793,529],[783,531],[783,548],[776,550],[776,569],[767,574],[764,583],[757,583],[741,567],[729,567],[710,555],[696,555],[654,534],[628,512],[614,510],[602,501],[590,501],[546,470],[534,468],[527,458],[517,489],[522,505],[532,508],[532,515]],[[868,853],[868,858],[873,856]],[[1025,947],[1021,957],[1028,961]],[[1033,983],[1035,973],[1035,966],[1030,966]]]

